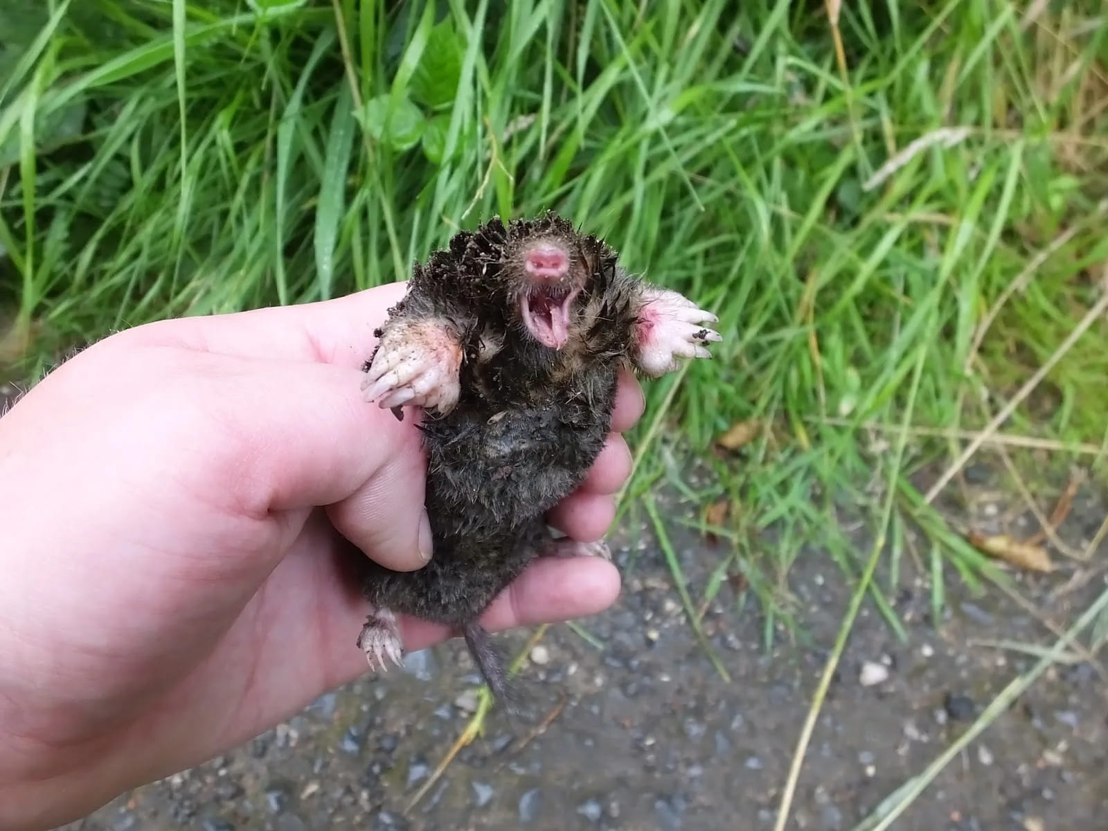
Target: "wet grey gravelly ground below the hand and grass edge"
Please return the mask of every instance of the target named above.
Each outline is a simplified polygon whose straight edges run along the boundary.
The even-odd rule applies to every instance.
[[[989,475],[978,471],[983,488]],[[984,507],[986,517],[1003,519],[996,505]],[[1086,488],[1064,536],[1090,540],[1106,510],[1104,491]],[[693,507],[673,501],[667,511],[689,515]],[[727,681],[693,636],[663,554],[645,532],[628,531],[614,537],[625,543],[617,557],[627,570],[624,595],[583,622],[596,643],[551,628],[522,669],[523,715],[510,721],[493,712],[484,735],[410,811],[474,705],[476,676],[459,644],[409,656],[408,671],[328,694],[235,752],[124,794],[70,828],[772,829],[849,587],[820,551],[803,552],[789,587],[806,637],[778,630],[767,652],[758,605],[738,608],[737,586],[726,585],[705,632]],[[697,597],[725,548],[671,533]],[[860,537],[860,558],[866,547]],[[1098,576],[1051,602],[1050,591],[1071,572],[1019,576],[1022,591],[1061,625],[1106,585]],[[971,596],[956,579],[948,592],[950,611],[936,626],[930,588],[904,557],[890,596],[906,642],[863,605],[811,739],[789,829],[852,828],[1036,660],[975,639],[1054,643],[1038,619],[995,592]],[[515,654],[530,634],[501,644]],[[1079,661],[1049,669],[892,828],[1100,827],[1108,806],[1100,671]]]

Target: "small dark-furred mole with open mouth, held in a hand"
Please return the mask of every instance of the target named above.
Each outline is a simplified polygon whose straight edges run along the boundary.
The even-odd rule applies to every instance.
[[[393,572],[367,557],[372,612],[357,639],[370,666],[402,660],[397,614],[465,639],[497,705],[514,709],[503,658],[480,624],[535,557],[602,556],[555,537],[545,514],[584,480],[609,431],[620,366],[657,378],[710,358],[717,321],[629,274],[596,236],[550,212],[455,234],[416,264],[375,331],[363,398],[422,410],[433,555]]]

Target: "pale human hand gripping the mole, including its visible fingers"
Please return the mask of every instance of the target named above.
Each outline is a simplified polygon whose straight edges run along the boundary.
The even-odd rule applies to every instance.
[[[350,543],[425,562],[419,431],[359,389],[403,290],[137,327],[0,418],[0,827],[76,819],[368,671]],[[642,411],[622,378],[613,429]],[[551,523],[599,538],[629,465],[614,434]],[[618,589],[603,560],[544,558],[483,623],[589,615]],[[407,649],[450,634],[400,624]]]

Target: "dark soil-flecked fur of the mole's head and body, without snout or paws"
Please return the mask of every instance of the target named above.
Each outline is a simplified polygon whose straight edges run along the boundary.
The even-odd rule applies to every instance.
[[[538,238],[557,239],[584,283],[562,350],[538,343],[517,312],[520,252]],[[504,670],[478,618],[548,543],[545,513],[581,484],[604,444],[642,285],[604,243],[557,216],[507,226],[493,219],[417,265],[407,296],[390,309],[386,327],[452,321],[463,348],[461,392],[450,413],[424,412],[421,424],[434,555],[407,573],[367,561],[365,595],[461,630],[501,701]],[[502,346],[490,353],[494,343]]]

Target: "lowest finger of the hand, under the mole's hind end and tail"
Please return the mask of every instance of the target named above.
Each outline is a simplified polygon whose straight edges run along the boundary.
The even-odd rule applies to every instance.
[[[619,570],[596,557],[542,558],[489,606],[481,616],[490,632],[516,626],[537,626],[596,615],[619,597]],[[435,624],[401,618],[404,649],[414,652],[451,637],[454,633]]]

